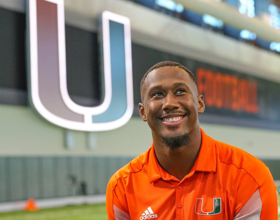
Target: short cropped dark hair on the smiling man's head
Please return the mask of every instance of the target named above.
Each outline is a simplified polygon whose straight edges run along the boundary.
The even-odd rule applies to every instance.
[[[146,79],[147,75],[148,75],[151,71],[153,71],[153,70],[155,70],[155,69],[158,69],[158,68],[160,68],[160,67],[164,67],[164,66],[176,66],[176,67],[179,67],[179,68],[185,70],[185,71],[189,74],[189,76],[190,76],[190,78],[191,78],[191,80],[192,80],[192,82],[193,82],[193,85],[194,85],[194,87],[195,87],[195,90],[196,90],[196,92],[197,92],[197,83],[196,83],[196,79],[195,79],[195,76],[194,76],[194,74],[192,73],[192,71],[190,71],[188,68],[186,68],[185,66],[183,66],[183,65],[180,64],[180,63],[176,63],[176,62],[173,62],[173,61],[161,61],[161,62],[159,62],[159,63],[153,65],[153,66],[145,73],[145,75],[143,76],[143,78],[142,78],[142,80],[141,80],[141,83],[140,83],[140,95],[141,95],[141,101],[142,101],[142,102],[143,102],[143,89],[144,89],[145,79]],[[197,94],[198,94],[198,92],[197,92]]]

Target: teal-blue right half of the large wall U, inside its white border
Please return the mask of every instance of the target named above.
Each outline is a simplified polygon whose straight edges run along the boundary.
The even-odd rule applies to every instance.
[[[127,109],[124,25],[115,21],[109,21],[109,27],[112,100],[107,111],[100,115],[92,116],[94,123],[115,121],[122,117]]]

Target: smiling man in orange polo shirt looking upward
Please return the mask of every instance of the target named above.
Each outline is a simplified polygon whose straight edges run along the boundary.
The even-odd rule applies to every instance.
[[[157,63],[140,90],[139,113],[153,143],[110,179],[109,220],[277,220],[276,186],[265,164],[200,128],[205,106],[190,70]]]

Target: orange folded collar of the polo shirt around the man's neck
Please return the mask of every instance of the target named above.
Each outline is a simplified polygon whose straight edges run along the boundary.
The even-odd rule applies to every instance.
[[[200,128],[200,131],[201,145],[199,155],[192,170],[194,169],[194,171],[215,172],[216,151],[214,140],[213,138],[206,135],[202,128]],[[172,176],[164,171],[164,169],[162,169],[162,167],[158,164],[157,157],[155,155],[154,143],[152,143],[152,146],[150,148],[148,178],[150,183],[153,183],[160,178],[162,178],[163,180],[171,180],[172,178]]]

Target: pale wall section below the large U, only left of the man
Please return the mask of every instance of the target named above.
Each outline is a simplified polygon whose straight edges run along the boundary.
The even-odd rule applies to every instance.
[[[138,118],[119,129],[95,133],[95,149],[87,148],[87,132],[72,131],[74,146],[68,150],[66,130],[31,108],[0,105],[0,115],[1,156],[137,156],[151,145],[150,128]]]

